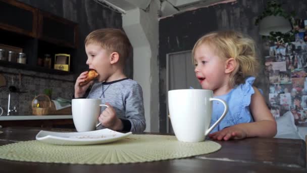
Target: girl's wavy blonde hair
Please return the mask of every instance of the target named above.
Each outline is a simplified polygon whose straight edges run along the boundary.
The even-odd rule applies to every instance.
[[[234,58],[237,66],[230,74],[230,85],[244,83],[248,76],[257,76],[259,62],[255,52],[255,42],[236,31],[215,31],[199,38],[192,50],[202,44],[209,45],[221,58]],[[194,62],[194,60],[193,60]]]

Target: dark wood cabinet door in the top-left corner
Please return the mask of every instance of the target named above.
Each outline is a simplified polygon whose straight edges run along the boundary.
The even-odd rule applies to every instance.
[[[36,37],[38,10],[15,0],[0,0],[0,29]]]

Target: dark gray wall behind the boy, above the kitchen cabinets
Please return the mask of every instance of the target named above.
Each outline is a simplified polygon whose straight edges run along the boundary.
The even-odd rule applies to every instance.
[[[122,16],[93,0],[19,0],[40,10],[52,13],[79,24],[79,47],[72,57],[72,71],[78,76],[88,69],[84,39],[88,33],[99,28],[122,29]],[[125,68],[128,77],[133,76],[133,63],[129,59]]]

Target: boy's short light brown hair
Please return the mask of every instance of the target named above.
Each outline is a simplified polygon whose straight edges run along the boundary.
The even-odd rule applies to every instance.
[[[104,28],[92,31],[86,36],[84,44],[85,46],[89,44],[98,44],[101,48],[106,49],[110,53],[117,52],[121,62],[129,57],[132,50],[132,46],[125,32],[115,28]]]

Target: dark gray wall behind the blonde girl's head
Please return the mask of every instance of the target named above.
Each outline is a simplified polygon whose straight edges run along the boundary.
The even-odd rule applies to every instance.
[[[286,11],[295,11],[297,18],[307,19],[307,1],[279,2],[285,3],[283,8]],[[264,57],[268,55],[268,50],[258,33],[258,26],[254,25],[255,18],[263,12],[266,4],[267,0],[238,0],[187,11],[159,21],[160,132],[166,132],[166,55],[192,50],[197,39],[210,31],[234,29],[251,36],[257,42],[262,66],[255,85],[264,90],[268,98],[269,81],[264,73]]]

